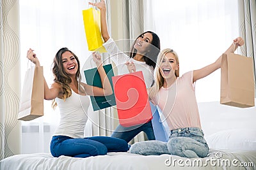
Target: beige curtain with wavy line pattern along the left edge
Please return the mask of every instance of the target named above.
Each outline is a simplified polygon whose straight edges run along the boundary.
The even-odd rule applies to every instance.
[[[20,153],[19,1],[0,0],[0,160]]]

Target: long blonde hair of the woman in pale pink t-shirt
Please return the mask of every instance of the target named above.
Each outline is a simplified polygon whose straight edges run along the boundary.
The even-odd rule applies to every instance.
[[[175,56],[175,59],[177,61],[177,64],[179,64],[179,57],[178,57],[177,53],[174,50],[172,50],[171,48],[165,48],[164,50],[162,50],[159,53],[159,55],[157,57],[156,68],[154,70],[155,82],[154,82],[154,85],[152,87],[150,87],[150,89],[148,90],[148,96],[150,97],[150,99],[155,97],[157,92],[159,92],[161,87],[163,87],[163,85],[164,85],[164,78],[163,78],[162,74],[160,73],[160,65],[163,62],[163,58],[166,55],[166,53],[173,53],[173,55]],[[179,72],[180,72],[180,69],[178,67],[178,69],[175,70],[176,77],[179,77]]]

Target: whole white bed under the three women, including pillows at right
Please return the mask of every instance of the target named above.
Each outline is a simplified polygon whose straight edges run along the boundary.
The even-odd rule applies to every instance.
[[[200,103],[200,117],[209,155],[187,159],[175,155],[108,153],[97,157],[52,157],[50,153],[13,155],[0,161],[1,170],[48,169],[256,169],[256,108],[239,109]]]

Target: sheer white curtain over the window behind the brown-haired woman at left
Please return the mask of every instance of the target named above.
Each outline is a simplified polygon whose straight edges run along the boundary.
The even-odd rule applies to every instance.
[[[87,48],[82,15],[82,10],[89,7],[88,1],[20,0],[19,3],[21,80],[24,80],[28,67],[26,53],[29,48],[35,50],[40,64],[44,66],[48,85],[53,80],[52,60],[60,48],[68,47],[76,53],[83,67],[91,54]],[[22,153],[49,152],[52,133],[59,123],[57,111],[58,108],[52,110],[51,101],[45,101],[44,117],[22,122]]]

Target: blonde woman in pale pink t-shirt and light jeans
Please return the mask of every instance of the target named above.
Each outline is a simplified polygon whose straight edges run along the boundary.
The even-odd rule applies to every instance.
[[[226,50],[234,52],[244,45],[242,38]],[[206,157],[209,151],[201,129],[200,115],[195,96],[195,81],[208,76],[221,67],[221,56],[212,64],[184,73],[179,77],[179,59],[172,49],[165,49],[157,57],[156,83],[149,89],[152,103],[163,111],[169,127],[168,143],[143,141],[131,146],[131,153],[142,155],[172,154],[180,157]]]

